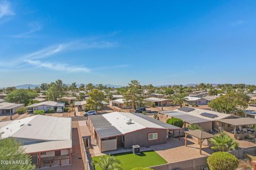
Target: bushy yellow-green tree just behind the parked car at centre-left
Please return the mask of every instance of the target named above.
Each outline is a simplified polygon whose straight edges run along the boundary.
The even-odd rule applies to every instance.
[[[93,89],[89,92],[89,99],[86,100],[85,108],[87,110],[98,110],[102,108],[102,101],[104,100],[104,95],[102,91],[98,89]]]

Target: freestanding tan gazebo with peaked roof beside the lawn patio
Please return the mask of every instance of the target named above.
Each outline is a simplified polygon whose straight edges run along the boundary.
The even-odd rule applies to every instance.
[[[207,133],[205,131],[202,130],[194,130],[194,131],[186,131],[185,132],[185,146],[187,146],[187,137],[188,135],[191,135],[195,138],[197,138],[198,142],[199,142],[199,153],[202,154],[202,142],[205,139],[210,139],[213,138],[214,135],[211,133]]]

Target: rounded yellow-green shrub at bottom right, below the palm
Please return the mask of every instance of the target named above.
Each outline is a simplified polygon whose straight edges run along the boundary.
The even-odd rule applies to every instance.
[[[207,158],[211,170],[235,170],[239,160],[227,152],[215,152]]]

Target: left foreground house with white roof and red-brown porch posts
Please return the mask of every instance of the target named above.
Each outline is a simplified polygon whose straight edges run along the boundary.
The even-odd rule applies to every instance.
[[[0,122],[0,134],[22,143],[37,168],[71,164],[72,131],[70,117],[35,115]]]

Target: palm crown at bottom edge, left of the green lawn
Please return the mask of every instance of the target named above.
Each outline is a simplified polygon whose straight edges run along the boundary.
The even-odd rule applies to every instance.
[[[122,170],[120,160],[116,159],[114,156],[101,156],[98,161],[92,163],[95,169],[100,167],[102,170]]]

